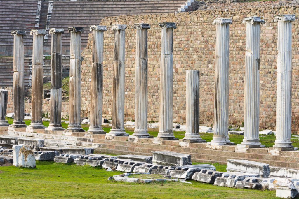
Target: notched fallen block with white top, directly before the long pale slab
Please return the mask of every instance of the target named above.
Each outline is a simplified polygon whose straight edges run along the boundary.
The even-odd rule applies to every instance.
[[[247,177],[260,177],[259,174],[253,173],[244,173],[244,172],[233,172],[233,173],[223,173],[221,177],[216,178],[214,185],[217,186],[226,186],[226,187],[234,187],[237,181],[242,181]]]

